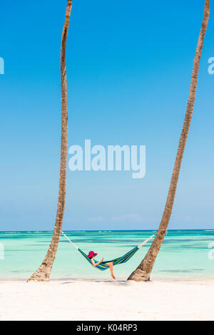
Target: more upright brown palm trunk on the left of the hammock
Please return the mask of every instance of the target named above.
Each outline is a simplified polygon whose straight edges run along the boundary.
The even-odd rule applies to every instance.
[[[58,206],[56,212],[56,222],[54,233],[51,239],[48,252],[39,269],[31,275],[28,281],[49,281],[51,269],[53,267],[56,250],[61,235],[61,227],[63,224],[63,213],[66,200],[66,165],[67,165],[67,149],[68,149],[68,105],[67,105],[67,80],[66,80],[66,40],[68,34],[68,26],[71,15],[72,0],[67,1],[66,19],[63,26],[61,39],[61,164],[58,188]]]

